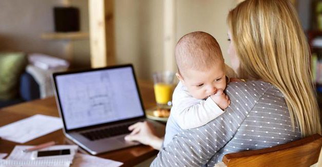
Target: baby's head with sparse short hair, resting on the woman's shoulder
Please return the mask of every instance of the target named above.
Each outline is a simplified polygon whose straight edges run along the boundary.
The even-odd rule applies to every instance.
[[[176,76],[196,99],[225,89],[225,65],[216,39],[205,32],[184,35],[176,45]]]

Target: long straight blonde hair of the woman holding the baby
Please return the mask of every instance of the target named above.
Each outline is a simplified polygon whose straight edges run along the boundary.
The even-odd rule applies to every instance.
[[[293,128],[321,133],[306,36],[288,0],[247,0],[230,11],[228,24],[241,76],[263,79],[285,96]]]

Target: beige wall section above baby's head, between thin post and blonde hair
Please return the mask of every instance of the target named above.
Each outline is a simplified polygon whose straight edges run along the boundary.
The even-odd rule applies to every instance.
[[[226,16],[235,5],[234,0],[178,0],[177,40],[192,31],[210,33],[218,41],[226,64],[230,65]]]

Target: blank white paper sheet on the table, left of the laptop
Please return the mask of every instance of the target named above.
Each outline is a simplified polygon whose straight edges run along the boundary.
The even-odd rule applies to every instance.
[[[62,127],[62,120],[58,117],[34,115],[0,127],[0,137],[17,143],[25,143]]]

